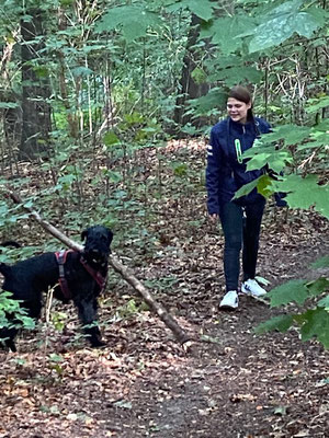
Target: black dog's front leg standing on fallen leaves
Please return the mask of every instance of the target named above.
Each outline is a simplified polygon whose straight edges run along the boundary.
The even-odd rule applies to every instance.
[[[75,300],[78,308],[79,319],[84,326],[83,331],[92,347],[103,347],[105,343],[102,341],[102,335],[98,322],[98,301],[92,300]],[[86,327],[87,325],[87,327]]]

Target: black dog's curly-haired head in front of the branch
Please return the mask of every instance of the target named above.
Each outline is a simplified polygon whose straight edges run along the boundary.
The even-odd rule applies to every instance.
[[[112,231],[102,226],[90,227],[81,233],[81,240],[84,239],[84,255],[88,261],[104,266],[111,254]]]

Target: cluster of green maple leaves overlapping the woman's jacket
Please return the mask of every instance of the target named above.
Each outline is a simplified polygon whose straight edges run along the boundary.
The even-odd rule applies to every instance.
[[[319,152],[324,150],[326,154],[327,128],[327,123],[315,127],[283,125],[275,128],[273,132],[262,136],[253,148],[243,153],[243,158],[248,159],[247,170],[265,168],[282,176],[272,180],[262,175],[259,180],[241,187],[235,197],[247,195],[254,187],[265,197],[275,192],[282,192],[287,194],[285,200],[291,208],[314,208],[329,218],[329,186],[319,184],[318,176],[315,174],[291,173],[291,166],[297,166],[304,159],[305,150],[317,149]],[[292,147],[296,146],[300,155],[292,153]],[[321,160],[320,153],[318,160],[320,165],[326,166],[326,161]]]

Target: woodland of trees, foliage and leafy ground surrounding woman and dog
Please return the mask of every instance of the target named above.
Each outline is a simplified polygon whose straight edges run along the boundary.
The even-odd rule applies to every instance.
[[[59,307],[18,357],[1,355],[0,436],[325,437],[328,1],[3,0],[0,12],[1,240],[24,244],[0,261],[58,249],[5,197],[10,187],[72,238],[111,227],[123,262],[207,341],[188,358],[113,275],[109,350],[63,345],[76,319]],[[274,127],[249,169],[284,176],[254,183],[269,197],[260,264],[271,308],[248,301],[243,314],[218,316],[223,237],[206,217],[204,151],[237,83]],[[288,209],[272,205],[276,191]],[[254,337],[258,323],[290,332]]]

